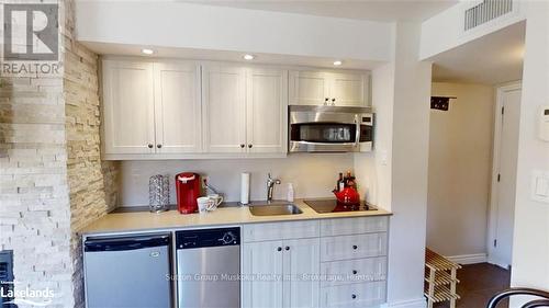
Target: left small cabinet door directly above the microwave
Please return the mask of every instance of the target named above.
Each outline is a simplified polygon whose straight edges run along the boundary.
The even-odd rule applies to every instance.
[[[323,105],[329,98],[329,80],[320,71],[290,71],[290,104]]]

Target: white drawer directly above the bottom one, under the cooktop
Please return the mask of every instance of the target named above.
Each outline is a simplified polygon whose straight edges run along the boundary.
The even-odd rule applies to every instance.
[[[386,278],[386,258],[368,258],[321,263],[322,286],[369,283]]]

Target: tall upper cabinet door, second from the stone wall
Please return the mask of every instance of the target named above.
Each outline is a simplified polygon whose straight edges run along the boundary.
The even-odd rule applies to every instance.
[[[155,64],[156,152],[199,152],[202,145],[200,66]]]

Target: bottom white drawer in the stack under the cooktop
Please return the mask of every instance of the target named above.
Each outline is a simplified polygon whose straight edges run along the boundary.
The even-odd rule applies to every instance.
[[[372,307],[385,303],[385,282],[372,282],[321,289],[321,307]]]

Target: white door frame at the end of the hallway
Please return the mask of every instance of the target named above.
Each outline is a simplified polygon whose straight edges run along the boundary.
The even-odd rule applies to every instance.
[[[506,264],[501,260],[495,258],[494,241],[496,239],[496,227],[497,227],[497,193],[498,193],[498,181],[497,174],[500,174],[500,161],[501,161],[501,145],[502,145],[502,107],[503,107],[503,93],[509,91],[522,90],[523,81],[512,81],[508,83],[496,85],[495,89],[495,105],[494,105],[494,140],[493,140],[493,155],[492,155],[492,179],[491,179],[491,191],[490,191],[490,209],[488,219],[488,238],[486,238],[486,252],[488,262],[497,265],[503,269],[508,269],[511,264]],[[520,103],[520,102],[519,102]],[[513,249],[513,248],[512,248]]]

